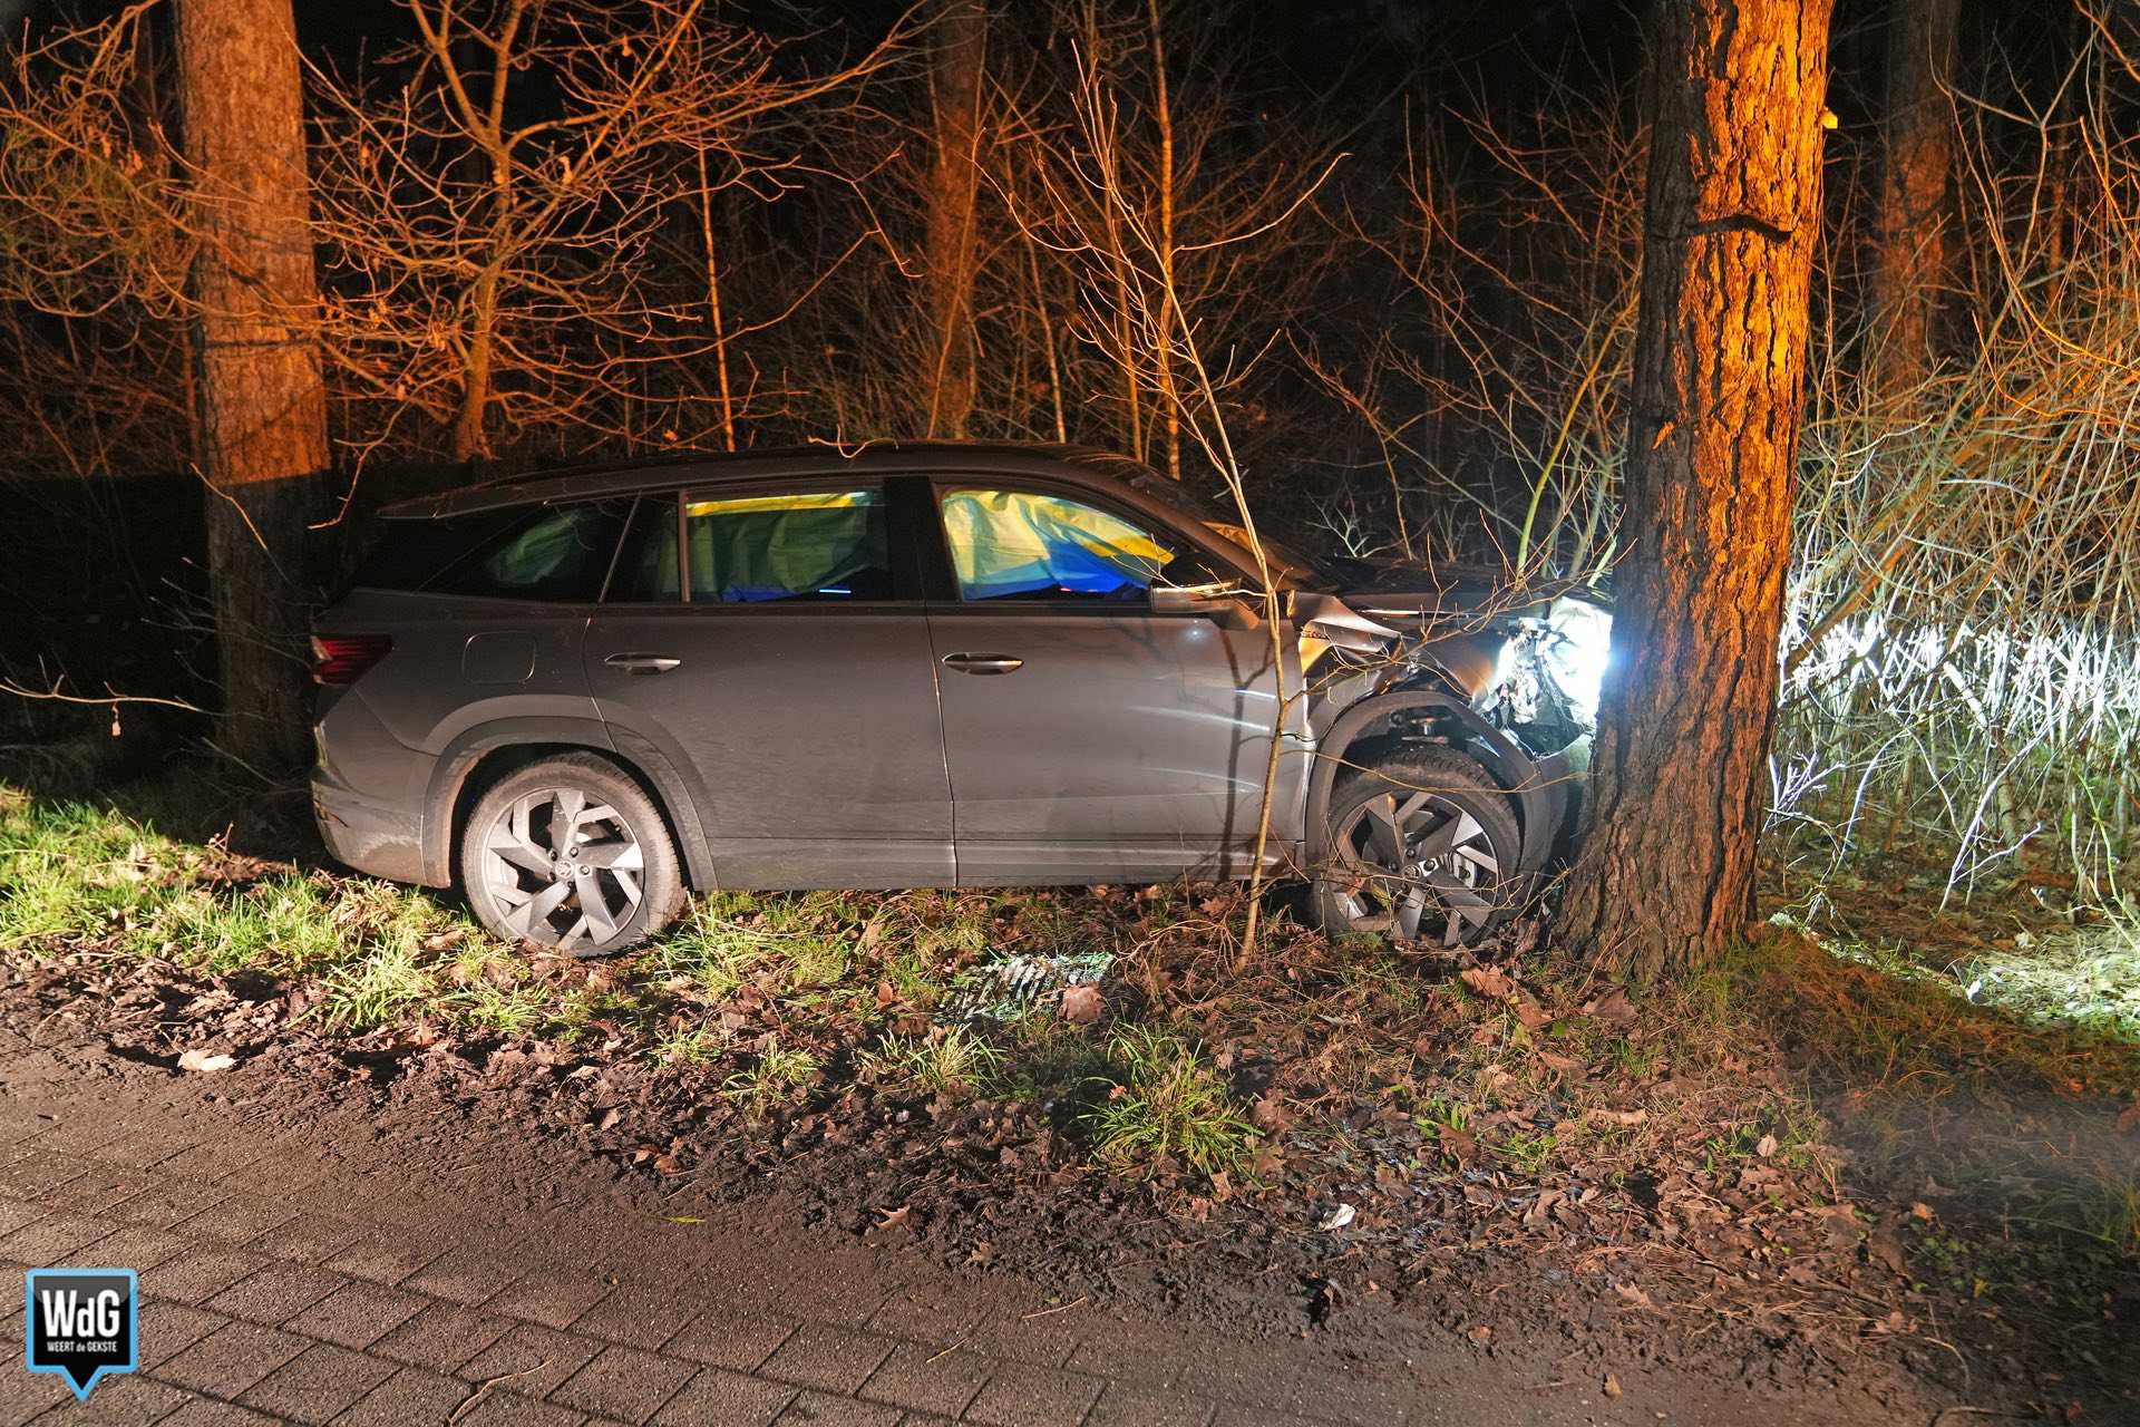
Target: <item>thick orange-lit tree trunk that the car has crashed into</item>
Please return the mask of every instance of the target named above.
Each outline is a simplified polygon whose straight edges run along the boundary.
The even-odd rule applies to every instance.
[[[1611,665],[1562,931],[1635,976],[1744,931],[1776,710],[1830,0],[1663,0]]]

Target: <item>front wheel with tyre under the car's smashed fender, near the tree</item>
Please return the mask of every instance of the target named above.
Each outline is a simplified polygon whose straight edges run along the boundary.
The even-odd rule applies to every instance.
[[[1329,933],[1470,946],[1530,899],[1509,794],[1451,749],[1400,749],[1338,783],[1325,845],[1314,914]]]

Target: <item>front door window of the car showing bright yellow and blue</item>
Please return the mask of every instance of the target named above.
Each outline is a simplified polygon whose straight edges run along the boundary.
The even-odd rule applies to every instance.
[[[1177,582],[1186,543],[1098,505],[1034,490],[948,490],[944,539],[961,599],[1141,601]]]

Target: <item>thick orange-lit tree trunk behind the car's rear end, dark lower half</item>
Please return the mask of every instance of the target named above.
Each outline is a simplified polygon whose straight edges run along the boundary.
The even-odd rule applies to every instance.
[[[327,469],[304,101],[289,0],[182,0],[186,158],[210,242],[193,274],[201,475],[223,710],[261,770],[306,757],[306,524]]]

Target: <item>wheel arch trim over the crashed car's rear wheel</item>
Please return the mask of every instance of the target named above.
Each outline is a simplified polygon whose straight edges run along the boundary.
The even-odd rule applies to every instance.
[[[460,834],[486,789],[556,753],[593,753],[638,783],[676,843],[685,884],[700,892],[713,888],[713,858],[683,779],[659,753],[618,749],[608,727],[593,719],[509,719],[462,734],[432,766],[424,798],[424,881],[439,888],[454,884]]]

